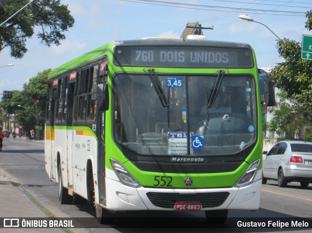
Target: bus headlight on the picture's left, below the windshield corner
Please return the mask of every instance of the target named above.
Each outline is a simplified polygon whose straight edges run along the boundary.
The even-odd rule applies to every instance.
[[[121,162],[111,158],[111,163],[121,183],[135,188],[141,186],[139,182],[130,174],[130,172],[128,172],[128,170],[122,165]]]

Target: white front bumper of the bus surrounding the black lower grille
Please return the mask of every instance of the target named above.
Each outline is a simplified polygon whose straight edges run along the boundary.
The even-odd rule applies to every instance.
[[[175,211],[175,206],[159,207],[155,205],[148,197],[148,193],[159,194],[159,201],[162,200],[162,194],[178,194],[187,196],[189,194],[216,194],[228,192],[228,197],[218,206],[202,207],[201,210],[257,210],[260,205],[261,193],[261,170],[257,172],[255,181],[244,187],[231,188],[209,188],[209,189],[164,189],[164,188],[134,188],[120,183],[114,179],[106,178],[106,208],[111,211],[142,211],[142,210],[159,210]],[[198,201],[198,199],[197,199]],[[157,200],[156,200],[157,202]],[[200,199],[199,199],[200,202]]]

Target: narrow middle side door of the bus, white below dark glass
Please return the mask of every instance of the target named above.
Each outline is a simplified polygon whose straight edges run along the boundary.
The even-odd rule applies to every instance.
[[[66,89],[66,143],[67,143],[67,173],[68,173],[68,187],[73,187],[73,108],[74,108],[74,91],[75,82],[69,83]]]

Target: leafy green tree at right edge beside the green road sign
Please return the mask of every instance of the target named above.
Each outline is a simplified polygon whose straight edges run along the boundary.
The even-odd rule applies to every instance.
[[[305,27],[311,31],[312,10],[306,18]],[[284,93],[277,108],[272,109],[275,116],[270,126],[277,131],[293,132],[295,127],[305,124],[302,117],[312,120],[312,61],[301,59],[300,42],[284,38],[278,40],[276,48],[285,61],[273,69],[272,79]],[[286,98],[293,106],[288,105]]]

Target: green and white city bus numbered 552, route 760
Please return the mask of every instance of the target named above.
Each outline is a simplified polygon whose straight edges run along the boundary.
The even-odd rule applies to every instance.
[[[176,38],[113,41],[52,70],[45,168],[60,203],[88,200],[101,223],[119,211],[222,223],[257,210],[258,75],[248,44]]]

